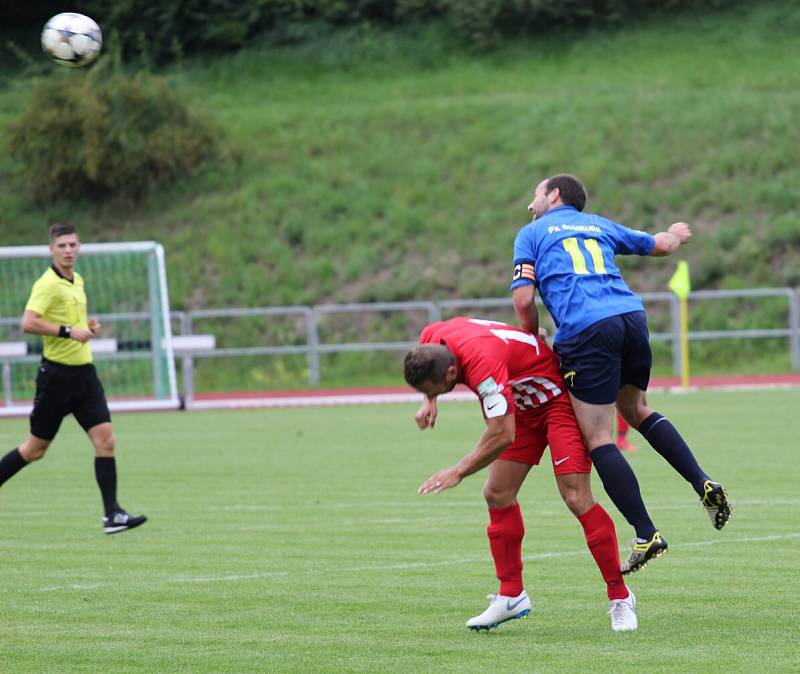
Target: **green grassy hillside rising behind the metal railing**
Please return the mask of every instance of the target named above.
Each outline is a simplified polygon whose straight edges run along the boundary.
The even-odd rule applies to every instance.
[[[590,210],[693,223],[696,288],[800,285],[798,32],[800,7],[765,2],[485,55],[433,27],[184,63],[165,76],[231,159],[136,207],[41,208],[3,155],[2,238],[70,218],[158,239],[176,308],[502,296],[533,186],[569,171]],[[0,126],[28,86],[0,94]],[[674,262],[624,268],[663,289]]]

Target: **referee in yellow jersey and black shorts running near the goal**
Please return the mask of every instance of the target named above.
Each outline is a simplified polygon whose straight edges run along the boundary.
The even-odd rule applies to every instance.
[[[114,433],[103,385],[92,364],[89,340],[100,333],[96,318],[87,320],[83,279],[75,271],[81,243],[73,225],[50,227],[53,264],[33,284],[22,329],[44,337],[44,355],[36,376],[36,397],[28,439],[0,459],[0,485],[31,461],[44,456],[68,414],[77,419],[94,445],[94,472],[103,497],[103,531],[116,534],[147,521],[129,515],[117,503]]]

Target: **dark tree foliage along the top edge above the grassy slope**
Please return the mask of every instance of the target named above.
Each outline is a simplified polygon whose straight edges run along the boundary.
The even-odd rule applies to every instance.
[[[119,36],[127,56],[154,62],[184,54],[227,51],[256,36],[303,39],[310,25],[384,27],[434,18],[450,23],[470,45],[504,36],[542,33],[553,26],[623,23],[653,11],[698,7],[704,12],[735,0],[76,0],[70,11]],[[49,8],[49,9],[48,9]],[[45,21],[50,3],[33,0],[0,8],[0,19]]]

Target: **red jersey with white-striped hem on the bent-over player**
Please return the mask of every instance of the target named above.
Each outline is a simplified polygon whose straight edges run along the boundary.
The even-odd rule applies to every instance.
[[[459,316],[431,323],[421,344],[444,344],[458,359],[461,377],[483,402],[501,394],[507,409],[544,405],[565,390],[558,358],[542,340],[524,330],[478,318]],[[484,404],[484,413],[492,407]]]

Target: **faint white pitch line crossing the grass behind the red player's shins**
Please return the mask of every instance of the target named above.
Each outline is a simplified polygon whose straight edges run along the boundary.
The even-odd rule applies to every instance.
[[[785,541],[790,539],[800,538],[800,532],[793,532],[789,534],[775,534],[772,536],[751,536],[743,538],[717,538],[707,541],[693,541],[689,543],[681,543],[680,547],[705,547],[708,545],[720,545],[725,543],[763,543],[772,541]],[[586,550],[571,550],[569,552],[537,552],[531,555],[525,555],[526,560],[533,559],[551,559],[559,557],[578,557],[586,555]],[[454,566],[458,564],[485,564],[487,562],[486,556],[481,557],[463,557],[460,559],[447,559],[438,562],[396,562],[392,564],[363,564],[359,566],[339,567],[335,573],[359,573],[364,571],[403,571],[410,569],[431,569],[441,566]],[[255,572],[248,574],[234,574],[234,575],[219,575],[219,576],[173,576],[172,578],[149,579],[145,581],[127,583],[128,586],[140,585],[153,589],[166,585],[194,585],[200,583],[239,583],[250,580],[261,580],[264,578],[277,578],[287,576],[303,576],[313,575],[316,573],[325,573],[330,575],[329,569],[312,569],[309,571],[291,572],[291,571],[265,571]],[[103,588],[118,588],[120,583],[69,583],[66,585],[46,585],[44,587],[34,589],[38,592],[57,592],[61,590],[97,590]],[[17,592],[25,592],[25,589],[18,589]]]

